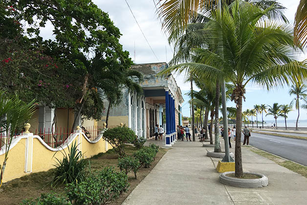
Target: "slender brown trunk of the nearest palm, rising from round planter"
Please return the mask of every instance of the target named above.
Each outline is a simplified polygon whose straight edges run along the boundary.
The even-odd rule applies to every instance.
[[[235,175],[242,177],[242,153],[241,153],[241,135],[242,135],[242,96],[237,100],[237,119],[236,119],[236,148],[235,148]]]

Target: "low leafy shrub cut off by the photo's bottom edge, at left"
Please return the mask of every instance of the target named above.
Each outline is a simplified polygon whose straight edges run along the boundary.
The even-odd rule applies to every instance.
[[[22,200],[21,205],[71,205],[71,203],[63,196],[42,194],[41,197],[34,201],[29,199]]]

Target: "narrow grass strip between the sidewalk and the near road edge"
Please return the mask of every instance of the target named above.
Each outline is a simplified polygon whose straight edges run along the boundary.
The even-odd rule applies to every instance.
[[[294,171],[294,172],[296,172],[296,173],[298,173],[298,174],[307,178],[307,166],[304,166],[302,164],[294,163],[290,160],[285,160],[281,157],[277,157],[275,155],[264,152],[263,150],[260,150],[260,149],[256,149],[254,147],[248,147],[248,149],[251,150],[252,152],[256,153],[256,154],[259,154],[259,155],[275,162],[276,164],[284,166],[285,168],[287,168],[291,171]]]

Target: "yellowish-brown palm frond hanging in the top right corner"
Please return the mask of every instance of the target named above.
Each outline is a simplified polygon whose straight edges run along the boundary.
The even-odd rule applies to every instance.
[[[294,19],[294,41],[298,45],[307,43],[307,0],[301,0]]]

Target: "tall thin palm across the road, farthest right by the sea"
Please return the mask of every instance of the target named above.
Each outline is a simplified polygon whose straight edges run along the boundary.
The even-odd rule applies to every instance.
[[[295,102],[295,109],[297,109],[297,111],[298,111],[295,129],[298,130],[298,122],[299,122],[299,117],[300,117],[300,100],[307,102],[307,100],[306,100],[307,86],[304,85],[304,84],[295,83],[295,86],[291,85],[291,88],[289,90],[289,94],[290,94],[290,96],[295,95],[295,98],[290,102],[290,106],[292,106],[293,103]]]

